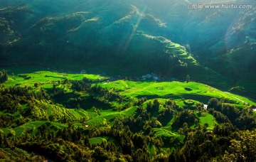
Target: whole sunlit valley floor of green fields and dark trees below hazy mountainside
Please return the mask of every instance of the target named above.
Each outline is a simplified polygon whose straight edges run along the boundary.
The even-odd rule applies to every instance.
[[[25,75],[31,79],[24,80]],[[208,146],[207,142],[218,141],[219,136],[231,136],[227,132],[235,131],[233,126],[251,129],[255,121],[244,104],[253,101],[197,82],[114,80],[105,84],[98,75],[43,70],[25,75],[11,75],[0,88],[0,138],[8,141],[0,142],[4,151],[16,139],[19,148],[49,151],[50,157],[61,155],[56,161],[64,157],[78,160],[73,155],[78,152],[83,155],[80,158],[100,161],[117,152],[134,159],[142,155],[174,159],[173,154],[179,157],[176,151],[189,152],[187,147],[201,143]],[[25,143],[28,139],[31,142]],[[213,146],[217,150],[229,147],[220,147],[218,142]],[[198,151],[201,156],[212,150],[205,149]]]

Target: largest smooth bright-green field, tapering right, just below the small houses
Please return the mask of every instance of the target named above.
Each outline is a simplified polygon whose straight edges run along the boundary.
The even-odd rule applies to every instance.
[[[245,97],[222,92],[214,87],[198,82],[133,82],[117,80],[114,82],[102,83],[100,86],[106,87],[109,90],[114,88],[114,90],[119,91],[122,95],[128,97],[194,99],[199,102],[204,102],[205,104],[210,98],[216,97],[218,99],[229,99],[239,105],[243,105],[242,101],[249,104],[255,104],[255,102]],[[162,87],[162,90],[159,90],[156,87]],[[187,91],[185,90],[185,87],[189,87],[192,90]]]

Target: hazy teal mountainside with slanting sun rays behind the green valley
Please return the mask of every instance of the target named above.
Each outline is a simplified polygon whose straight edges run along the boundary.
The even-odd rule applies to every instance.
[[[224,82],[223,76],[229,77],[235,81],[234,87],[242,85],[253,92],[255,1],[225,2],[251,4],[252,9],[186,9],[196,2],[209,3],[1,1],[0,63],[105,65],[137,75],[158,72],[180,78],[201,70],[208,74],[192,60],[182,58],[181,48],[166,53],[166,45],[174,42],[185,46],[200,65],[215,70],[215,79]],[[202,78],[195,75],[194,79]]]

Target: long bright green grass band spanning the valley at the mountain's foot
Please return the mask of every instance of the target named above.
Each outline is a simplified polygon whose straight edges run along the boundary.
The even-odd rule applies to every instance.
[[[107,78],[100,75],[70,74],[31,67],[5,69],[9,74],[11,74],[9,75],[9,82],[4,83],[6,87],[14,85],[33,87],[34,83],[39,82],[44,89],[48,90],[53,87],[53,84],[58,83],[59,80],[82,80],[84,77],[87,77],[90,80],[104,80]],[[129,80],[117,80],[114,82],[102,82],[99,85],[107,87],[108,89],[114,88],[114,91],[130,97],[194,99],[203,103],[208,102],[211,97],[217,97],[219,99],[230,99],[230,101],[240,105],[244,104],[244,102],[248,104],[255,104],[255,102],[245,97],[222,92],[198,82],[133,82]],[[61,86],[59,87],[63,88],[65,92],[70,92],[68,85],[64,85],[64,87],[63,85]],[[185,90],[185,87],[191,88],[191,91]]]

